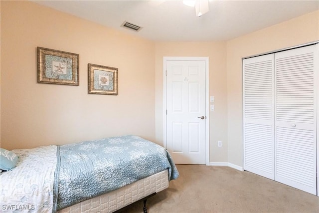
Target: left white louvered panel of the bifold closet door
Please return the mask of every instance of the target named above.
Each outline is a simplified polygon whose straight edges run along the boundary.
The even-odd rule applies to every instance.
[[[274,179],[274,55],[243,60],[244,169]]]

